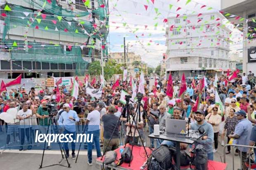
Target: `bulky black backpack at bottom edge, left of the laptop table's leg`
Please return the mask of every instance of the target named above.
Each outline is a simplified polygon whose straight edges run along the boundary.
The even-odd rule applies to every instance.
[[[171,151],[165,145],[152,151],[148,159],[148,170],[168,170],[172,166]]]

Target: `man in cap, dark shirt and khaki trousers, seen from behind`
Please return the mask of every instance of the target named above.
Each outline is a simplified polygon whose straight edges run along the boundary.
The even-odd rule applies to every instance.
[[[121,122],[119,121],[119,117],[114,115],[115,112],[116,112],[115,106],[111,105],[109,107],[108,114],[104,114],[101,118],[103,122],[103,127],[104,127],[103,153],[105,151],[114,151],[119,146],[119,128],[120,128]],[[110,137],[111,137],[111,140],[110,140]]]

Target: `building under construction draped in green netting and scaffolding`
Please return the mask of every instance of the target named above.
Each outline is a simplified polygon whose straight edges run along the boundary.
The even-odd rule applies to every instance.
[[[97,0],[87,6],[83,0],[45,2],[1,1],[1,78],[83,76],[91,62],[100,61],[108,34],[108,19],[100,12],[107,4],[101,9]]]

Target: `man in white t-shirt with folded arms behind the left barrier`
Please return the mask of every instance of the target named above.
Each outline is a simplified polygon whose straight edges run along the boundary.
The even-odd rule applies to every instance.
[[[17,119],[20,120],[19,122],[19,128],[20,128],[20,137],[21,137],[21,145],[24,144],[24,140],[25,140],[25,133],[26,133],[26,137],[28,142],[31,144],[31,137],[29,135],[29,131],[31,128],[31,124],[28,118],[30,118],[32,116],[32,110],[28,109],[28,105],[26,103],[22,104],[22,109],[17,113]],[[31,145],[28,146],[28,150],[30,150],[32,148]],[[21,151],[23,149],[23,147],[19,147],[19,150]]]

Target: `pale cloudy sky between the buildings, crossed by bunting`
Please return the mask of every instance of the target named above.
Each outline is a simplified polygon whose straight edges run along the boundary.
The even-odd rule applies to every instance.
[[[155,68],[166,52],[167,26],[164,19],[177,14],[191,14],[193,11],[198,14],[220,10],[220,0],[191,0],[185,5],[186,2],[187,0],[109,0],[110,52],[123,52],[123,37],[126,37],[128,51],[139,54],[142,61]],[[171,10],[170,4],[173,5]],[[148,6],[147,10],[144,5]],[[202,5],[207,7],[201,9]],[[176,11],[178,7],[181,9]],[[209,7],[213,9],[207,10]],[[230,48],[235,50],[240,45]]]

